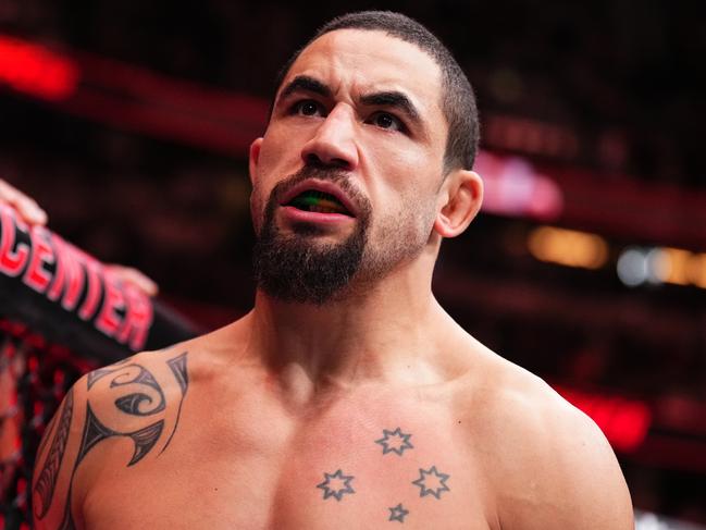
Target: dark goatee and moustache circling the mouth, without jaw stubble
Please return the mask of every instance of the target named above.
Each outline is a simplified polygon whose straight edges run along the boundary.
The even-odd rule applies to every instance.
[[[283,234],[275,222],[282,197],[301,181],[319,178],[337,184],[356,205],[354,232],[342,243],[320,243],[320,229],[296,224]],[[253,250],[258,286],[282,301],[322,305],[345,291],[358,272],[368,243],[372,208],[345,173],[308,165],[278,183],[268,199]]]

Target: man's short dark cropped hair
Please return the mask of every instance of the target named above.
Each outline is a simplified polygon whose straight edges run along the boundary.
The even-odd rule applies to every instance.
[[[478,151],[480,125],[473,88],[450,51],[419,22],[392,11],[360,11],[337,16],[324,24],[309,41],[299,48],[280,71],[275,86],[280,90],[289,69],[301,52],[314,40],[337,29],[384,32],[429,53],[442,72],[442,111],[448,124],[444,171],[471,169]]]

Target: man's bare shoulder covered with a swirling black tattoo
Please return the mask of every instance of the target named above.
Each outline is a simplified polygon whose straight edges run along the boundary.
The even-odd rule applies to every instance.
[[[182,346],[99,368],[70,389],[36,456],[35,528],[74,528],[86,485],[103,469],[138,465],[169,446],[189,387]],[[128,443],[106,451],[108,439]]]

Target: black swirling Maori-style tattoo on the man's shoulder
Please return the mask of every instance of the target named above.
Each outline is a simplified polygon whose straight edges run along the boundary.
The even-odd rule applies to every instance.
[[[32,491],[36,525],[47,517],[52,503],[58,502],[54,492],[59,477],[64,476],[69,477],[69,486],[66,497],[63,500],[63,518],[59,528],[61,530],[75,528],[71,513],[74,477],[86,455],[96,445],[114,437],[131,439],[133,454],[125,463],[126,467],[137,465],[156,447],[159,447],[159,452],[156,452],[157,456],[169,447],[178,428],[182,406],[189,386],[188,353],[169,354],[168,352],[165,361],[160,358],[162,354],[146,354],[154,356],[154,359],[150,359],[149,366],[140,360],[145,358],[144,356],[135,356],[99,368],[77,383],[77,385],[85,384],[83,389],[75,385],[69,391],[49,424],[37,454],[37,461],[41,463],[41,466],[35,469]],[[159,362],[164,362],[164,369],[158,366]],[[168,381],[168,378],[171,381]],[[166,386],[172,390],[166,391]],[[76,407],[77,395],[86,396],[85,406]],[[110,410],[111,407],[114,409]],[[168,426],[166,411],[174,409],[175,414],[170,412],[170,418],[174,419],[170,419]],[[83,418],[77,418],[76,416],[83,410],[85,410]],[[116,417],[124,417],[126,420],[133,418],[133,420],[115,424]],[[72,424],[80,426],[79,429],[74,428],[74,432],[82,432],[80,437],[76,436],[76,441],[73,442],[77,445],[77,451],[67,451],[71,445]],[[126,424],[136,427],[126,428]],[[64,461],[64,456],[67,453],[73,455],[74,452],[73,463],[69,457]]]

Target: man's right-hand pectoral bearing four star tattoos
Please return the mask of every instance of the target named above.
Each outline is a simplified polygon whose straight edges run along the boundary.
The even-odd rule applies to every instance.
[[[304,433],[282,468],[273,528],[488,528],[472,457],[434,423],[373,418]]]

